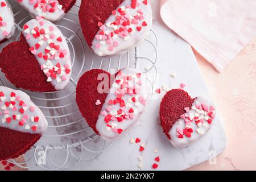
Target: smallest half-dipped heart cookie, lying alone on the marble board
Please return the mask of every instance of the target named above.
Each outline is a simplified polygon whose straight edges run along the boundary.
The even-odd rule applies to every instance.
[[[202,137],[212,126],[216,110],[203,97],[191,98],[182,89],[166,93],[160,104],[160,120],[164,133],[177,148]]]

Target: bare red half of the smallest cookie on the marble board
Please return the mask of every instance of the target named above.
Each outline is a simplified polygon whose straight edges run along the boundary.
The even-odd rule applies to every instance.
[[[168,134],[172,125],[185,113],[185,107],[191,107],[195,98],[191,98],[187,92],[182,89],[172,89],[166,93],[160,104],[160,121],[164,133],[168,139]]]

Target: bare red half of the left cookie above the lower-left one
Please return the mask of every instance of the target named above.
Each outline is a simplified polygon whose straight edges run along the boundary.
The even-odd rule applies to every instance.
[[[26,38],[8,44],[0,53],[0,68],[6,78],[18,88],[38,92],[51,92],[55,88],[40,69],[36,57],[29,51]]]

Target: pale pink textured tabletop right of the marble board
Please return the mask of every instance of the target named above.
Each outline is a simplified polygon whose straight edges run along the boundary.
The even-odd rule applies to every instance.
[[[256,37],[218,73],[195,51],[214,104],[218,108],[228,145],[217,157],[191,170],[256,170]]]

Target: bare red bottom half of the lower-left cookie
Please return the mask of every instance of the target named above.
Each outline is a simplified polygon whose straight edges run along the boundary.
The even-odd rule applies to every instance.
[[[25,154],[40,137],[40,134],[22,133],[0,127],[0,161]]]

